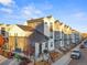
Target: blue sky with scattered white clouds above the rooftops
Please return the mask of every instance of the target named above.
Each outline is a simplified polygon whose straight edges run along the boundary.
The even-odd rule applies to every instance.
[[[87,32],[87,0],[0,0],[0,23],[23,24],[47,15]]]

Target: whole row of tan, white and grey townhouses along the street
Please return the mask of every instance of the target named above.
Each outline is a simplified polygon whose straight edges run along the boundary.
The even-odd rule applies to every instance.
[[[81,33],[52,15],[21,24],[0,24],[7,51],[39,58],[46,52],[64,53],[81,41]]]

